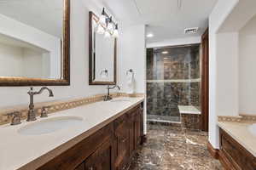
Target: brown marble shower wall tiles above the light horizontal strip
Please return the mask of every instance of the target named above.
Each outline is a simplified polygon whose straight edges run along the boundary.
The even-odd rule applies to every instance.
[[[152,50],[152,49],[148,49]],[[161,54],[168,51],[168,54]],[[199,45],[153,49],[147,53],[147,79],[194,79],[200,77]]]

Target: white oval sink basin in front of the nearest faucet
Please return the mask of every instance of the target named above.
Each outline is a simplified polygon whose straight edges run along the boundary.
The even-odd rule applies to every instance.
[[[49,118],[40,122],[32,122],[25,127],[20,127],[18,133],[24,135],[40,135],[53,133],[63,128],[77,126],[83,124],[83,118],[79,116],[59,116]]]

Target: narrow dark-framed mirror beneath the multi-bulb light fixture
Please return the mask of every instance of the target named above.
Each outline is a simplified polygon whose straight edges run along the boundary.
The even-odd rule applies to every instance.
[[[115,85],[116,84],[116,50],[117,38],[100,32],[99,17],[89,13],[89,84]],[[106,26],[102,29],[107,31]]]

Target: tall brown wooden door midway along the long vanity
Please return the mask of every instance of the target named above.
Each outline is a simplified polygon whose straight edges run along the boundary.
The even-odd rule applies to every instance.
[[[129,122],[127,116],[120,116],[115,127],[115,169],[122,169],[129,159]]]

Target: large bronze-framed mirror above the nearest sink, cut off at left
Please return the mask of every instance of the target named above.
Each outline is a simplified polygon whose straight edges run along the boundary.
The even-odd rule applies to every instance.
[[[70,0],[0,2],[0,86],[70,84]]]

